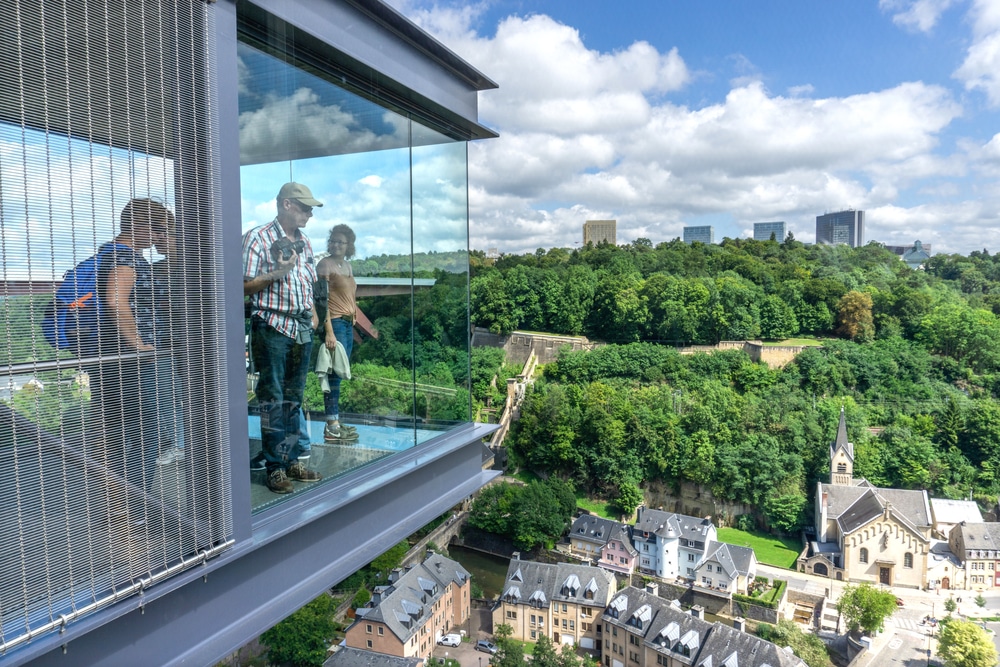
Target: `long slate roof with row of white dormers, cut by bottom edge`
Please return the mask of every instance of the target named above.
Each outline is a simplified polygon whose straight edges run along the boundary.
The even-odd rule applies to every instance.
[[[632,586],[615,594],[602,620],[641,635],[644,645],[663,655],[676,655],[686,646],[689,664],[696,667],[805,667],[802,660],[771,642],[696,618]],[[628,644],[627,638],[620,639]]]

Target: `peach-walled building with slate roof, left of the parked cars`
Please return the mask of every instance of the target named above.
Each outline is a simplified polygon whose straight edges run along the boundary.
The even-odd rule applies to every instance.
[[[430,553],[419,565],[394,570],[387,586],[357,610],[347,646],[401,658],[430,658],[438,639],[469,618],[469,573]]]

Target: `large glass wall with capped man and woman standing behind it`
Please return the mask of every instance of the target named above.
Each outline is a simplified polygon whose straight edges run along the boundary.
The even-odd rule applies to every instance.
[[[467,155],[465,140],[390,103],[377,81],[345,76],[342,54],[241,7],[250,475],[261,509],[471,420]],[[279,239],[302,244],[275,254]],[[349,378],[327,367],[338,342]]]

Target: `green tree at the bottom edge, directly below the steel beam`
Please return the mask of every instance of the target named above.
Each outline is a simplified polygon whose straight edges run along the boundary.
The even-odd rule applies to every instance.
[[[336,624],[337,603],[323,594],[260,636],[271,664],[320,667]]]

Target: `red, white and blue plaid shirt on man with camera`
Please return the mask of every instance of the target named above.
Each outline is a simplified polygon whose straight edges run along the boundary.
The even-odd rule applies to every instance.
[[[278,268],[271,257],[271,244],[282,236],[285,232],[277,219],[243,235],[243,280],[252,280]],[[295,338],[299,332],[301,325],[297,318],[312,310],[312,285],[316,280],[312,244],[305,234],[299,233],[299,238],[305,241],[306,247],[299,253],[295,267],[281,280],[250,295],[253,315],[289,338]]]

